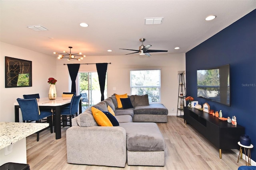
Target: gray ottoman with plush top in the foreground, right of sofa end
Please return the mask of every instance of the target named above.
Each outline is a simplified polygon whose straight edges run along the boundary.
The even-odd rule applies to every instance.
[[[128,165],[164,166],[165,143],[156,123],[120,123],[126,130]]]

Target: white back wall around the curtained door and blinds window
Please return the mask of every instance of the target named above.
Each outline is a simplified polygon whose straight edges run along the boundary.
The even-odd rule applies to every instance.
[[[178,71],[185,70],[185,53],[160,54],[152,53],[151,57],[140,55],[124,56],[93,56],[86,57],[83,61],[67,61],[62,59],[56,63],[57,94],[69,90],[68,66],[63,64],[81,63],[80,71],[96,71],[95,64],[82,63],[111,63],[108,64],[108,97],[112,94],[130,95],[130,70],[134,69],[161,69],[161,103],[167,107],[169,115],[176,115],[178,102]],[[61,84],[61,85],[60,85]],[[113,88],[116,88],[116,91]],[[100,96],[98,96],[100,98]],[[172,108],[174,110],[172,110]]]

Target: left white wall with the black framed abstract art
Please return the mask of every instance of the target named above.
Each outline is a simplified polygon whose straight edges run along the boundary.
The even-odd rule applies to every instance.
[[[32,61],[32,87],[5,88],[5,56]],[[56,58],[0,42],[0,72],[0,121],[14,122],[17,98],[34,93],[39,93],[40,97],[48,96],[47,81],[49,77],[56,77]]]

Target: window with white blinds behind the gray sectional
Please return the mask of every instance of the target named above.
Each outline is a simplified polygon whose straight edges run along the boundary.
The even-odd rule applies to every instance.
[[[150,103],[161,103],[161,70],[130,71],[131,95],[148,94]]]

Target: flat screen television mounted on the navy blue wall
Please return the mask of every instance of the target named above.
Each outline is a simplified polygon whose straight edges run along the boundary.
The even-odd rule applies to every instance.
[[[230,65],[197,70],[197,97],[230,106]]]

